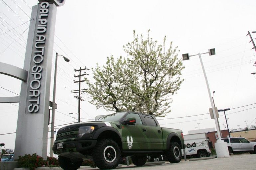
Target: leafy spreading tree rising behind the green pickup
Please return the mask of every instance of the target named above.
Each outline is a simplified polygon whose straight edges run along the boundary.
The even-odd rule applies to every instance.
[[[166,50],[148,37],[133,33],[133,41],[123,46],[127,58],[107,57],[106,65],[92,69],[95,83],[86,82],[90,103],[108,111],[137,111],[158,117],[170,113],[171,96],[180,89],[185,67],[172,42]],[[85,78],[86,79],[86,78]]]

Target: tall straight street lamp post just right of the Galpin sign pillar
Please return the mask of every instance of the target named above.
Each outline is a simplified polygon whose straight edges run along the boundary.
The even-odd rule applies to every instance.
[[[53,82],[53,109],[52,109],[52,123],[51,123],[50,157],[53,157],[53,144],[54,144],[54,119],[55,119],[55,94],[56,94],[57,60],[58,60],[58,53],[56,52],[54,82]]]

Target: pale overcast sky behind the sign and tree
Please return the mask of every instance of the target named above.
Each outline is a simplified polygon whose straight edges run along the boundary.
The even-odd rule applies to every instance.
[[[28,21],[31,8],[36,4],[36,0],[0,0],[0,62],[23,68]],[[66,0],[65,5],[57,9],[53,56],[58,52],[70,62],[58,59],[55,125],[76,122],[72,118],[77,117],[76,114],[68,115],[78,112],[78,101],[70,94],[70,90],[78,89],[78,84],[73,83],[77,79],[73,77],[77,74],[74,68],[95,68],[96,63],[102,66],[110,55],[127,56],[122,46],[133,40],[133,30],[146,37],[149,29],[150,36],[159,43],[167,36],[167,44],[173,41],[174,46],[179,46],[180,58],[183,53],[192,55],[215,48],[216,55],[204,54],[202,60],[210,91],[215,91],[216,107],[231,109],[226,112],[230,129],[245,128],[246,123],[255,125],[256,75],[251,73],[256,72],[253,66],[256,52],[246,36],[247,31],[256,31],[255,7],[255,0]],[[252,33],[252,37],[256,38],[256,34]],[[52,63],[51,101],[54,59]],[[182,129],[184,134],[188,134],[188,130],[213,128],[214,120],[206,114],[211,104],[199,58],[193,56],[183,64],[185,81],[178,94],[173,95],[172,111],[165,117],[172,119],[159,120],[159,123],[162,127]],[[91,70],[87,73],[93,82]],[[0,96],[17,96],[21,81],[0,74],[0,87]],[[82,88],[87,87],[82,84]],[[87,97],[83,94],[83,99]],[[16,132],[18,105],[0,103],[0,134]],[[110,113],[97,110],[87,101],[81,102],[83,122]],[[219,114],[220,128],[224,129],[223,112]],[[178,118],[186,116],[193,117]],[[15,133],[0,135],[0,142],[5,143],[5,148],[14,149]]]

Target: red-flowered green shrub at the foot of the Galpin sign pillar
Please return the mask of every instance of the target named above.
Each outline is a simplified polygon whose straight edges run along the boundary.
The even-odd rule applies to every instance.
[[[21,168],[30,168],[34,170],[37,167],[47,166],[47,162],[44,161],[43,157],[38,156],[36,153],[25,154],[24,156],[19,156],[18,167]]]

